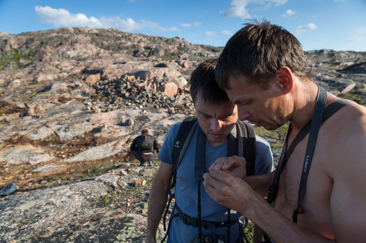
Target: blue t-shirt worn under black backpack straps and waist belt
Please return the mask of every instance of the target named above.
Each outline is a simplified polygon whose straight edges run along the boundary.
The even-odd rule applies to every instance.
[[[160,149],[158,158],[167,164],[173,165],[172,152],[175,136],[177,136],[181,123],[177,123],[169,129],[166,138]],[[235,129],[235,127],[233,128]],[[192,136],[189,147],[186,149],[184,158],[177,169],[177,179],[175,184],[175,203],[186,215],[198,218],[198,182],[195,179],[195,148],[198,128]],[[219,157],[227,157],[227,142],[221,145],[212,146],[206,142],[206,167],[205,171],[209,171],[210,165]],[[269,143],[256,136],[256,162],[254,166],[254,174],[260,175],[269,173],[272,170],[273,157]],[[227,207],[217,204],[204,190],[201,183],[201,219],[206,221],[225,222],[227,220]],[[173,211],[172,215],[176,213]],[[230,220],[240,218],[241,214],[231,211]],[[230,242],[242,242],[242,227],[238,224],[231,226]],[[215,231],[205,230],[202,228],[204,235],[211,237],[220,237],[227,240],[227,227],[216,228]],[[168,241],[174,243],[191,242],[198,235],[198,227],[184,224],[180,217],[173,218],[168,233]]]

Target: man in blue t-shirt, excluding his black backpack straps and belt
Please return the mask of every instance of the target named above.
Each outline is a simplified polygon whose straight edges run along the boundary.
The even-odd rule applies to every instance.
[[[199,127],[195,128],[191,142],[177,169],[175,184],[175,207],[172,215],[177,213],[177,206],[184,217],[198,219],[198,181],[195,178],[195,150],[198,129],[202,129],[205,135],[204,145],[204,169],[209,171],[210,165],[220,157],[227,157],[229,151],[228,137],[230,133],[236,133],[235,123],[238,120],[236,105],[229,101],[227,94],[220,89],[215,82],[214,70],[216,59],[201,63],[191,75],[191,97],[195,106],[195,114]],[[158,158],[162,161],[159,171],[155,176],[148,201],[148,225],[146,231],[146,243],[156,242],[157,226],[162,218],[166,205],[169,186],[173,176],[173,143],[182,123],[177,123],[169,129]],[[254,174],[270,173],[273,165],[273,157],[269,143],[256,136],[256,160]],[[244,168],[241,168],[244,170]],[[226,222],[228,209],[214,202],[204,191],[200,184],[201,220],[209,222]],[[243,229],[240,213],[231,210],[230,221],[235,222],[229,229],[227,226],[204,229],[202,234],[212,239],[220,239],[227,242],[228,232],[230,242],[243,241]],[[171,220],[168,232],[168,242],[197,242],[199,229],[197,225],[184,222],[182,217],[174,217]],[[229,243],[229,242],[227,242]]]

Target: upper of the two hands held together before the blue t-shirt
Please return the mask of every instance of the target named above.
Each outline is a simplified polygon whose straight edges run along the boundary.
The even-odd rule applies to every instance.
[[[243,157],[231,156],[227,158],[218,158],[213,162],[209,171],[212,170],[222,170],[227,171],[227,173],[232,176],[238,177],[245,180],[247,177],[247,161]]]

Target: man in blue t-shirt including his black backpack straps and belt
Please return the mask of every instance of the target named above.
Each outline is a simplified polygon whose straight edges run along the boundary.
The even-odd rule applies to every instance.
[[[248,165],[252,165],[249,174],[271,172],[273,157],[269,143],[256,136],[251,125],[238,121],[236,105],[229,101],[227,94],[215,82],[215,64],[216,59],[205,61],[191,75],[190,93],[196,117],[176,123],[166,134],[158,155],[160,168],[148,200],[146,243],[156,242],[157,226],[162,218],[172,178],[175,205],[168,223],[167,242],[201,242],[199,238],[202,237],[210,237],[206,240],[212,242],[242,242],[242,215],[217,204],[208,196],[200,180],[202,174],[209,171],[217,158],[230,155],[244,156]],[[180,134],[191,136],[178,140]],[[178,147],[182,149],[179,153],[176,152]],[[245,169],[238,167],[231,172],[235,174]],[[198,171],[201,173],[196,173]],[[199,174],[200,178],[195,176]]]

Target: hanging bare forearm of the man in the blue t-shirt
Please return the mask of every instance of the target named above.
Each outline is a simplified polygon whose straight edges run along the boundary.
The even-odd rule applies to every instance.
[[[146,242],[156,242],[156,231],[166,205],[170,184],[155,181],[148,200]]]

